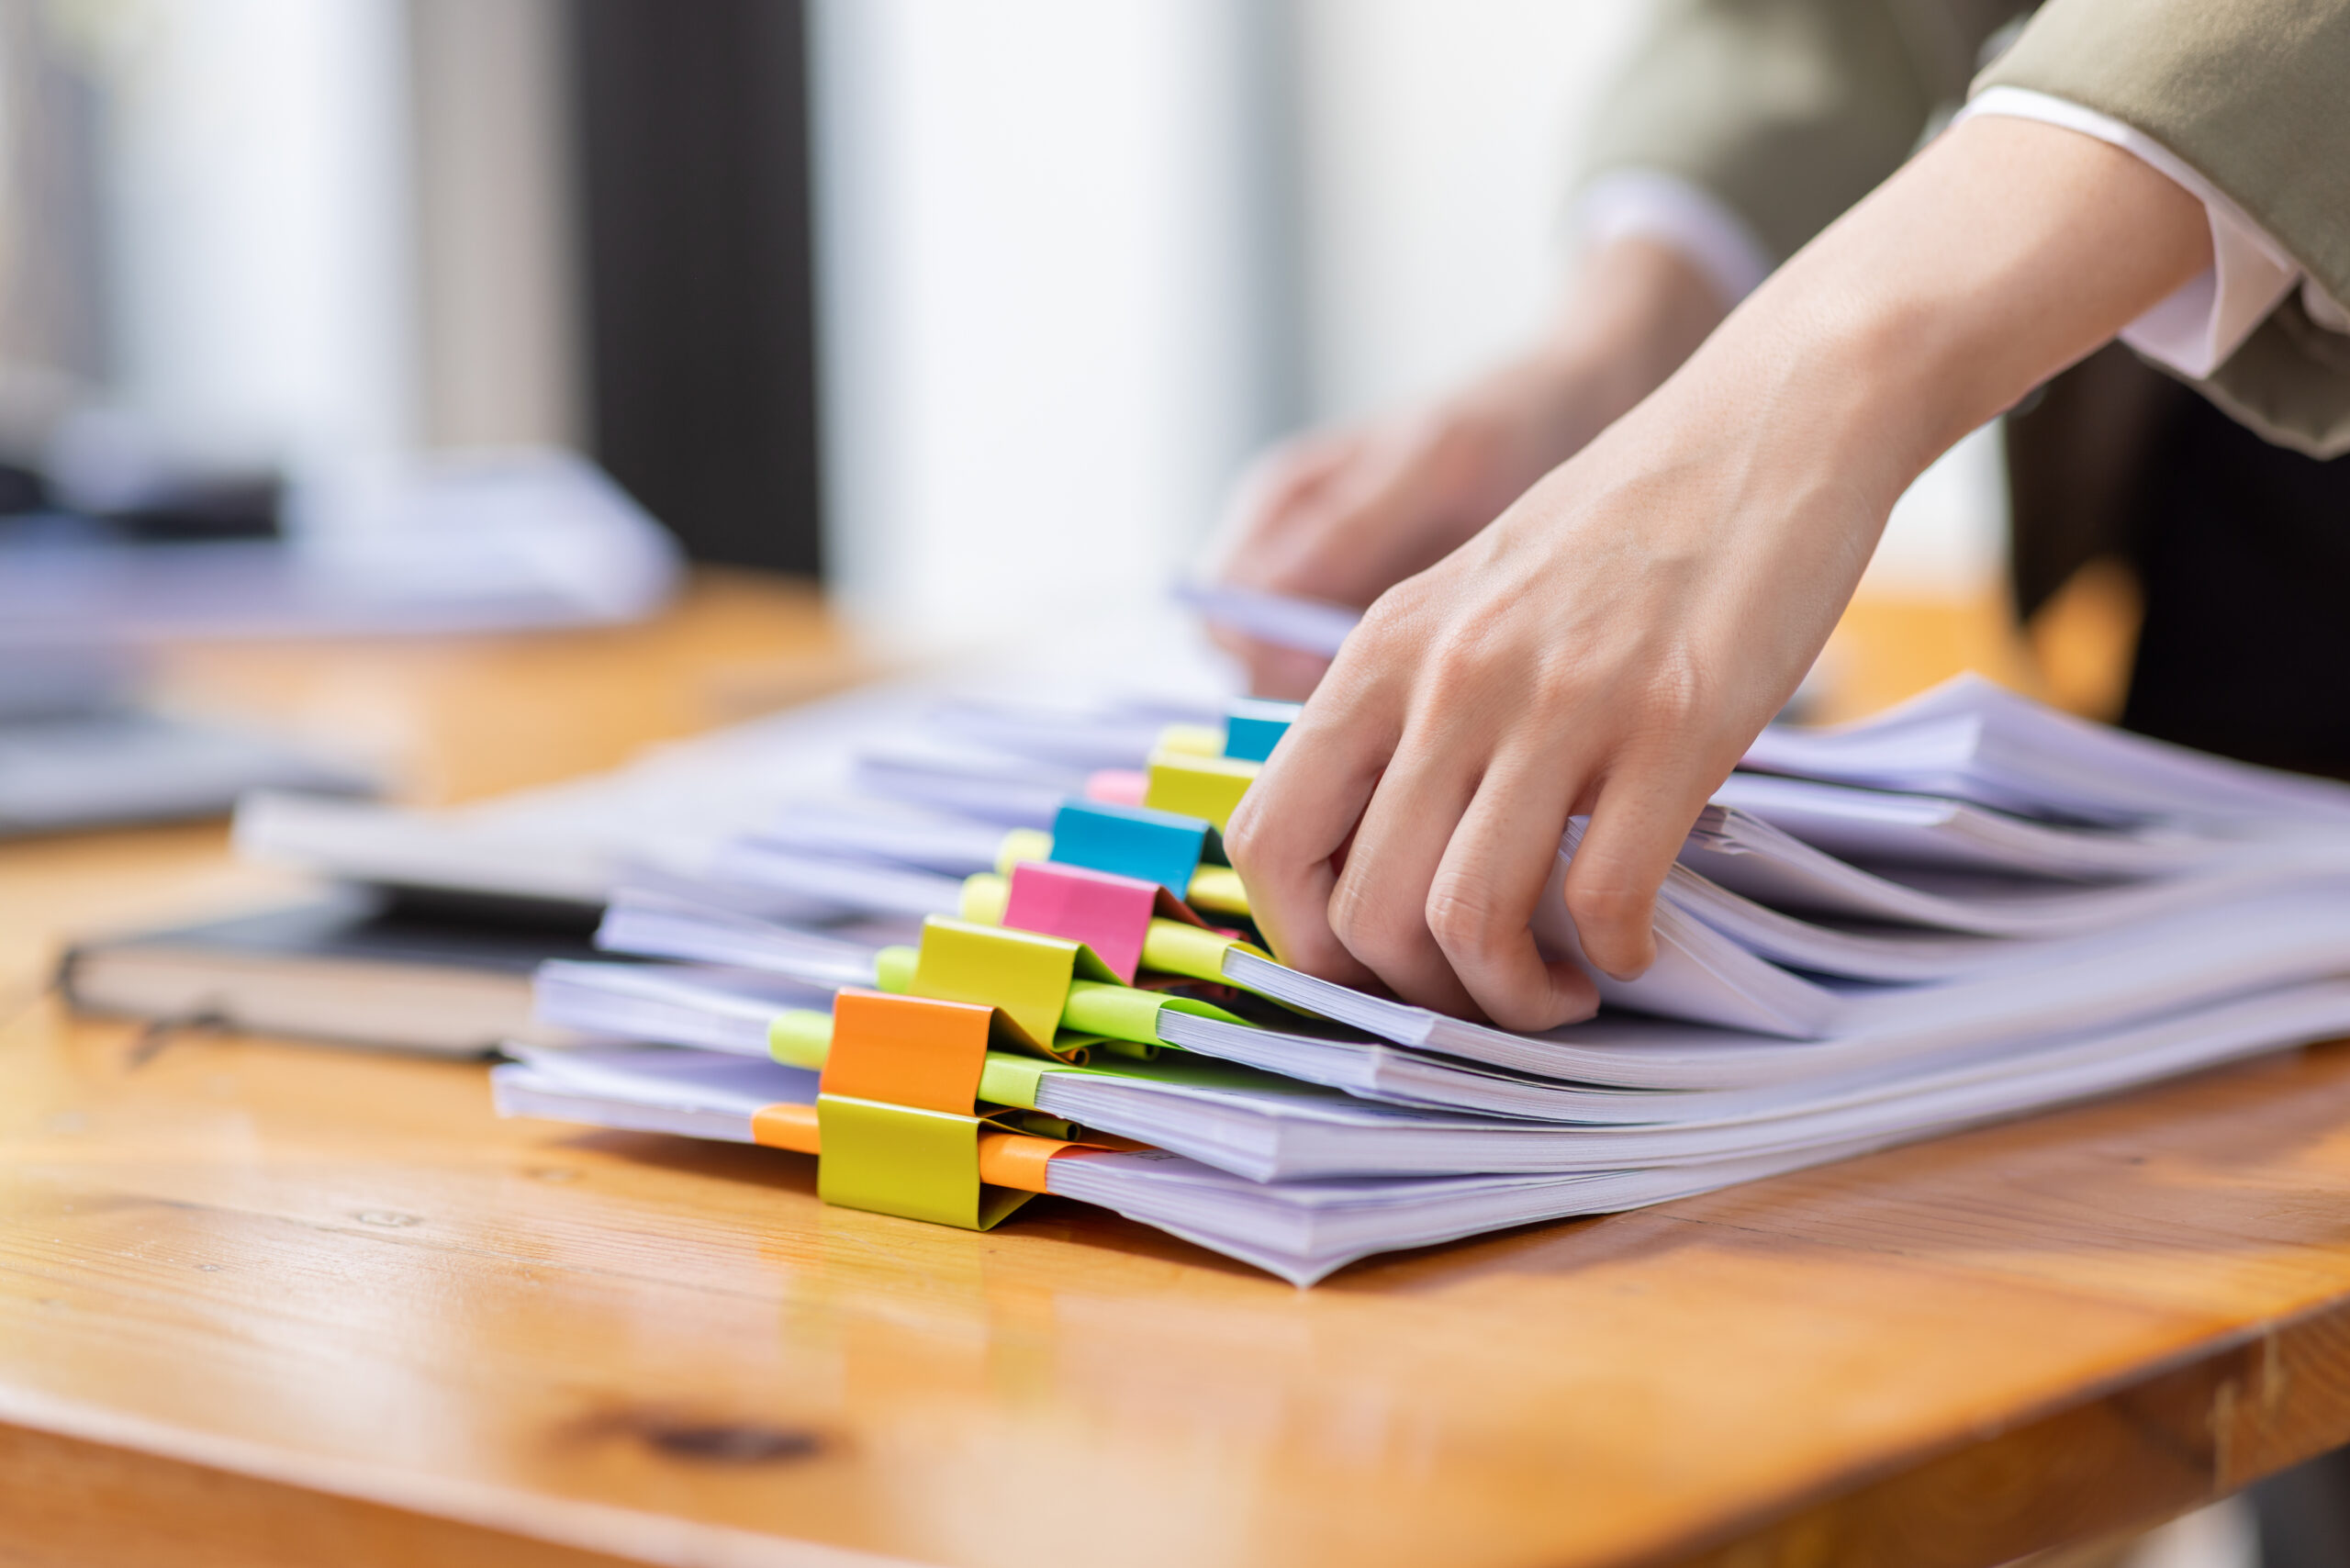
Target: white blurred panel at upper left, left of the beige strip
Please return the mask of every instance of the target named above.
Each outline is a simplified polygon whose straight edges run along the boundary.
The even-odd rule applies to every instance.
[[[136,0],[99,47],[122,404],[364,482],[414,411],[400,0]]]

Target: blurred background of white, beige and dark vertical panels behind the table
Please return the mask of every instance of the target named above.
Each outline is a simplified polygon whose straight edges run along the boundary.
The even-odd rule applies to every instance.
[[[1114,609],[1253,449],[1528,331],[1643,21],[0,0],[0,437],[129,428],[329,496],[576,447],[696,557],[818,574],[884,637]],[[1871,592],[1986,599],[2000,531],[1981,437]]]

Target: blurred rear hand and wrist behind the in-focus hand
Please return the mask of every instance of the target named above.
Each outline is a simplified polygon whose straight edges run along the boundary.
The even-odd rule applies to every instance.
[[[1528,355],[1443,402],[1302,435],[1241,480],[1217,576],[1361,609],[1502,515],[1664,381],[1720,322],[1723,299],[1650,240],[1598,249]],[[1302,698],[1325,661],[1238,632],[1257,696]]]

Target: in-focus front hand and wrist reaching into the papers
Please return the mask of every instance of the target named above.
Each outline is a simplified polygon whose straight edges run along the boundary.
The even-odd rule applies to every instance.
[[[1972,120],[1927,148],[1372,604],[1224,839],[1276,954],[1513,1030],[1589,1016],[1591,980],[1528,929],[1567,816],[1591,816],[1565,884],[1584,954],[1636,976],[1690,823],[1901,489],[2204,266],[2202,205],[2106,143]]]

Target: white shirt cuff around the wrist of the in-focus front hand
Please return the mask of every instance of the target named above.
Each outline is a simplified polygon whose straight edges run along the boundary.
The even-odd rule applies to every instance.
[[[2155,303],[2129,327],[2122,327],[2122,341],[2148,360],[2167,364],[2190,381],[2202,381],[2225,364],[2228,355],[2242,348],[2254,327],[2265,322],[2268,313],[2303,280],[2301,263],[2270,240],[2268,230],[2254,223],[2218,186],[2190,169],[2146,132],[2101,115],[2094,108],[2082,108],[2070,99],[2030,92],[2028,87],[1990,87],[1958,110],[1958,120],[1976,115],[2040,120],[2080,132],[2082,136],[2096,136],[2169,176],[2181,190],[2204,205],[2204,219],[2211,223],[2211,266],[2188,280],[2176,294]],[[2324,310],[2334,308],[2334,301],[2324,299],[2315,284],[2303,289],[2303,294],[2315,296],[2310,315],[2317,320],[2324,320]],[[2338,310],[2334,313],[2338,315]]]

